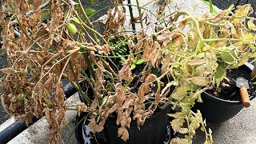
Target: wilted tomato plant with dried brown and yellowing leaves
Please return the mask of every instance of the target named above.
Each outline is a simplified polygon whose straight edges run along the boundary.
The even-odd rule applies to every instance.
[[[213,142],[200,111],[190,109],[194,102],[202,102],[202,92],[222,81],[227,69],[255,57],[254,18],[247,16],[250,5],[239,6],[235,14],[230,7],[197,18],[176,10],[164,15],[166,1],[158,7],[156,22],[148,22],[154,16],[143,14],[139,7],[140,15],[130,18],[133,32],[120,32],[128,21],[126,7],[114,1],[100,34],[80,0],[50,0],[40,10],[42,2],[2,1],[2,48],[9,66],[0,71],[2,103],[9,114],[27,123],[33,116],[46,115],[49,141],[58,143],[67,110],[61,81],[66,78],[82,94],[85,103],[77,106],[78,114],[89,113],[94,133],[115,116],[118,137],[126,141],[131,121],[142,126],[155,110],[170,103],[178,110],[170,114],[174,133],[186,135],[171,142],[192,142],[199,127],[206,143]],[[135,30],[135,22],[140,29]],[[153,34],[146,34],[149,27]],[[86,86],[79,84],[82,81]]]

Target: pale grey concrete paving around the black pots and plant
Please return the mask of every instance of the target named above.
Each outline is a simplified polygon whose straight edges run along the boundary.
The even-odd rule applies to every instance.
[[[142,1],[141,1],[142,2]],[[143,1],[147,2],[147,1]],[[174,0],[178,2],[178,8],[180,10],[190,10],[194,11],[194,6],[198,3],[202,3],[200,0]],[[219,2],[222,2],[219,0]],[[227,2],[232,2],[228,1]],[[234,1],[233,1],[234,2]],[[222,8],[222,7],[221,7]],[[154,11],[154,10],[152,10]],[[199,4],[198,8],[195,11],[195,14],[202,15],[203,12],[208,12],[209,9],[203,4]],[[78,101],[78,94],[74,94],[74,101]],[[234,118],[223,122],[222,124],[210,124],[208,126],[213,130],[214,143],[218,144],[254,144],[256,143],[256,100],[254,99],[251,102],[252,106],[248,109],[241,110]],[[74,111],[67,112],[67,121],[74,118]],[[5,125],[8,125],[5,123]],[[3,126],[2,126],[3,127]],[[24,144],[44,144],[47,143],[47,123],[46,119],[42,118],[34,125],[30,126],[27,130],[23,131],[22,134],[19,134],[16,138],[10,141],[10,144],[24,143]],[[0,126],[1,128],[1,126]],[[1,130],[1,129],[0,129]],[[71,125],[63,131],[62,142],[67,142],[71,134],[71,141],[69,143],[76,143],[74,134],[74,123],[71,122]],[[204,142],[204,134],[198,131],[197,136],[194,138],[194,143],[199,144]]]

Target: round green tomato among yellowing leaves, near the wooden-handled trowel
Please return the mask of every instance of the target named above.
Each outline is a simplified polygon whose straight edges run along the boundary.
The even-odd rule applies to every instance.
[[[233,63],[238,58],[238,50],[226,47],[221,53],[221,58],[224,62]]]

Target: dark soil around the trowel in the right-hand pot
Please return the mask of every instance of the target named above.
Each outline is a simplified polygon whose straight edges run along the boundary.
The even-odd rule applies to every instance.
[[[227,70],[226,75],[227,75],[226,77],[230,80],[230,82],[224,79],[221,82],[221,86],[219,86],[218,88],[214,86],[214,89],[207,90],[206,92],[211,95],[214,95],[217,98],[230,100],[230,101],[239,101],[241,100],[241,98],[240,98],[239,88],[236,86],[235,81],[238,77],[243,77],[248,79],[248,82],[249,82],[249,86],[250,86],[250,89],[248,90],[249,96],[255,95],[253,82],[251,82],[250,77],[244,74],[241,70],[239,69]],[[229,86],[223,86],[223,84],[229,85]]]

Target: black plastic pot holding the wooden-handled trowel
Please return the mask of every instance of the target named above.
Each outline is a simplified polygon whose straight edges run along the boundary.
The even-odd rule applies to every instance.
[[[245,78],[251,79],[251,70],[249,66],[240,66],[238,70],[242,71]],[[256,90],[255,86],[254,90]],[[255,95],[250,96],[250,100],[253,98],[255,98]],[[225,122],[226,120],[234,117],[235,114],[238,114],[238,112],[243,108],[241,101],[223,100],[207,93],[202,94],[202,101],[203,102],[197,102],[194,105],[193,110],[200,110],[202,117],[206,118],[206,122]]]

